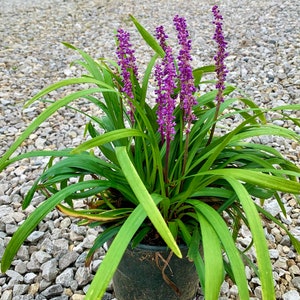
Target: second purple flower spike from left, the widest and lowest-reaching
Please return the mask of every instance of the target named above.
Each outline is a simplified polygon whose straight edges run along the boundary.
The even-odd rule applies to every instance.
[[[157,64],[155,67],[155,80],[157,82],[157,122],[159,125],[159,132],[162,137],[162,141],[167,142],[167,146],[170,141],[173,140],[175,134],[175,116],[173,115],[175,109],[175,99],[172,95],[174,93],[176,69],[174,65],[174,58],[172,49],[166,45],[166,34],[162,26],[156,29],[156,37],[160,41],[162,48],[166,55],[164,56],[162,63]]]

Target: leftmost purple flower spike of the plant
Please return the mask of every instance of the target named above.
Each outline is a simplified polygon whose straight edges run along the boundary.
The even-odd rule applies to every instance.
[[[118,47],[117,47],[117,56],[118,56],[118,65],[121,68],[121,73],[123,77],[123,88],[122,92],[126,93],[129,97],[128,104],[130,106],[130,119],[134,122],[134,106],[130,99],[133,99],[133,91],[132,91],[132,82],[131,76],[134,75],[137,77],[138,69],[136,66],[136,59],[134,56],[134,50],[132,49],[132,45],[130,43],[130,34],[126,32],[122,28],[119,28],[117,31],[117,39],[118,39]]]

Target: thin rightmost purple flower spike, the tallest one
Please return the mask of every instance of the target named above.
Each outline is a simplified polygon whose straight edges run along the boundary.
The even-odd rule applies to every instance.
[[[218,44],[218,51],[217,54],[214,56],[216,73],[218,78],[218,81],[216,83],[216,89],[218,90],[216,100],[218,103],[221,103],[224,101],[223,90],[225,89],[224,83],[226,80],[226,75],[228,73],[224,60],[228,56],[228,53],[226,52],[227,43],[225,42],[224,35],[223,35],[223,28],[222,28],[223,17],[217,5],[213,6],[212,12],[214,14],[213,24],[215,24],[216,26],[213,39]]]

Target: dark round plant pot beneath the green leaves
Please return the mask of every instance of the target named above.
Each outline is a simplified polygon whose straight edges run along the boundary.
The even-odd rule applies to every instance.
[[[166,247],[139,245],[128,248],[113,277],[118,300],[191,300],[198,289],[193,262],[170,255]],[[167,263],[169,258],[169,262]]]

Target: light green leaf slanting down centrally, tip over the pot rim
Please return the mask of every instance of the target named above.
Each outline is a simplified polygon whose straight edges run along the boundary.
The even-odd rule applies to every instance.
[[[162,239],[170,247],[174,254],[176,254],[178,257],[182,257],[180,249],[176,241],[174,240],[174,237],[170,232],[164,218],[162,217],[160,211],[153,202],[151,195],[147,191],[144,183],[142,182],[138,173],[136,172],[136,169],[134,168],[127,154],[126,147],[117,147],[116,155],[119,160],[120,167],[124,173],[124,176],[126,177],[134,194],[145,209],[153,226],[156,228]]]

